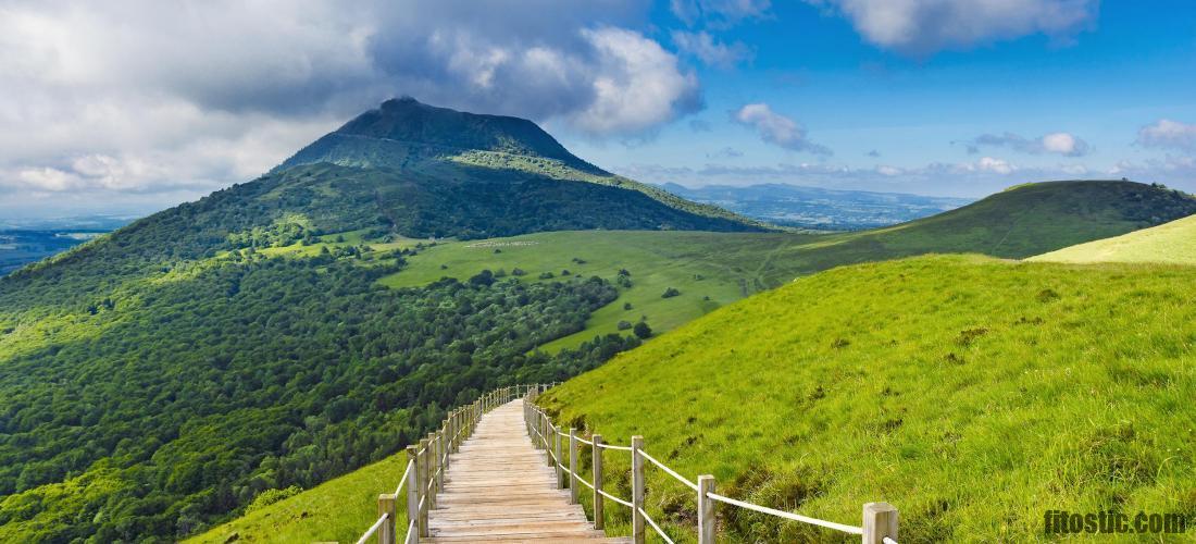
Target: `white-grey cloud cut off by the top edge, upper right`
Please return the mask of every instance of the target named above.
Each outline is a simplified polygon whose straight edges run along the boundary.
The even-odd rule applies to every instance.
[[[1092,24],[1098,0],[806,0],[841,12],[868,42],[926,55],[1043,33],[1069,39]]]

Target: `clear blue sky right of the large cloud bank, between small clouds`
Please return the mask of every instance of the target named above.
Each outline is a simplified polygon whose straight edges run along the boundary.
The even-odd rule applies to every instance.
[[[988,157],[1014,171],[930,179],[791,172],[768,181],[980,196],[1024,181],[1122,173],[1191,190],[1192,169],[1146,166],[1184,149],[1147,147],[1137,140],[1143,127],[1159,120],[1196,120],[1194,11],[1196,4],[1182,1],[1104,2],[1062,35],[1027,32],[908,51],[869,43],[849,18],[804,2],[777,2],[765,17],[709,32],[720,43],[742,43],[752,53],[733,68],[697,62],[706,108],[692,118],[708,123],[709,132],[675,123],[630,146],[565,139],[582,155],[648,181],[706,164],[748,171],[801,163],[917,170]],[[653,11],[653,24],[683,25],[667,6]],[[730,114],[751,103],[768,104],[801,124],[812,142],[832,154],[762,141]],[[1026,140],[1067,133],[1087,142],[1088,151],[1069,157],[996,145],[970,149],[977,136],[1006,133]],[[879,157],[869,155],[873,151]],[[685,177],[695,184],[751,182],[746,172]]]

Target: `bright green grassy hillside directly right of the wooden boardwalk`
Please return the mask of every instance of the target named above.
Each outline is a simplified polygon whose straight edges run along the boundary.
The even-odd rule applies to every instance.
[[[1196,514],[1194,319],[1188,268],[910,258],[724,307],[543,404],[733,497],[843,522],[883,500],[903,542],[1026,542],[1051,508]],[[606,459],[623,496],[627,462]],[[691,534],[690,491],[648,472],[652,515]],[[840,539],[719,515],[737,540]]]

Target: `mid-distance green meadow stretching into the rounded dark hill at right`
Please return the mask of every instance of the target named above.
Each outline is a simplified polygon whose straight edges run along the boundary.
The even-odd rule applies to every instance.
[[[1196,201],[1140,183],[1031,183],[932,218],[862,232],[573,231],[445,243],[411,257],[408,269],[383,283],[465,280],[483,269],[520,268],[529,281],[565,269],[610,280],[621,268],[629,270],[631,287],[594,312],[585,330],[541,347],[555,352],[620,332],[620,322],[647,318],[654,331],[666,332],[744,297],[843,264],[935,252],[1021,258],[1192,212]],[[661,299],[669,287],[681,297]],[[626,304],[631,308],[624,310]]]

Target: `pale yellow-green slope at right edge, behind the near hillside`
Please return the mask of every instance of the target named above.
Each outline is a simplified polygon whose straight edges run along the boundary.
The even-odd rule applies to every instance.
[[[1196,215],[1119,237],[1063,247],[1027,261],[1196,264]]]

